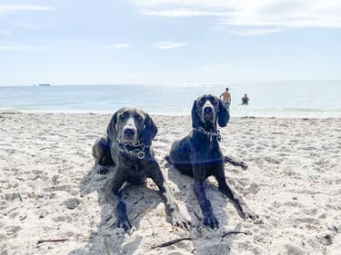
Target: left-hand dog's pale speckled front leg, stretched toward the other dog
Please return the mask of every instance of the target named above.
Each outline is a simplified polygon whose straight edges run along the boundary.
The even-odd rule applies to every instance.
[[[187,221],[181,214],[176,204],[174,194],[171,188],[169,188],[168,184],[165,182],[159,165],[155,162],[153,166],[149,166],[149,170],[151,171],[149,177],[155,182],[156,186],[160,190],[160,194],[165,202],[165,209],[171,216],[172,224],[174,226],[189,230],[190,222]]]

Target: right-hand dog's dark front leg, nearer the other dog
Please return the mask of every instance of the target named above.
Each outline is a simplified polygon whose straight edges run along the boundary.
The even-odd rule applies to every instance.
[[[211,202],[206,198],[206,191],[204,187],[204,181],[195,181],[194,187],[196,198],[199,201],[201,211],[204,215],[204,225],[211,229],[219,228],[219,221],[216,220],[216,216],[213,214]]]

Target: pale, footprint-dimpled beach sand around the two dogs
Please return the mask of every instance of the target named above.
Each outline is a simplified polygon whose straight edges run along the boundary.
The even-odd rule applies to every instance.
[[[103,199],[110,174],[94,172],[91,154],[110,117],[0,113],[0,254],[341,254],[341,119],[232,118],[222,151],[248,169],[226,164],[226,178],[259,219],[241,219],[210,179],[221,227],[206,230],[193,180],[164,160],[190,116],[152,116],[156,160],[193,227],[172,227],[147,181],[125,190],[134,230],[123,233]],[[245,233],[223,237],[231,230]],[[152,248],[181,237],[192,240]]]

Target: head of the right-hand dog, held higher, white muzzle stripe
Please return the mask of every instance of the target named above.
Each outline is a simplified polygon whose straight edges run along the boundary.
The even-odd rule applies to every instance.
[[[192,126],[202,126],[206,131],[216,131],[216,122],[225,127],[230,119],[226,107],[219,98],[204,94],[196,99],[192,107]]]

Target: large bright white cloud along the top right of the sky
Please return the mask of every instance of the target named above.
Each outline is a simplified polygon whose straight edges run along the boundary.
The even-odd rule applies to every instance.
[[[290,28],[341,28],[338,0],[132,0],[142,15],[208,16],[234,34],[262,35]]]

